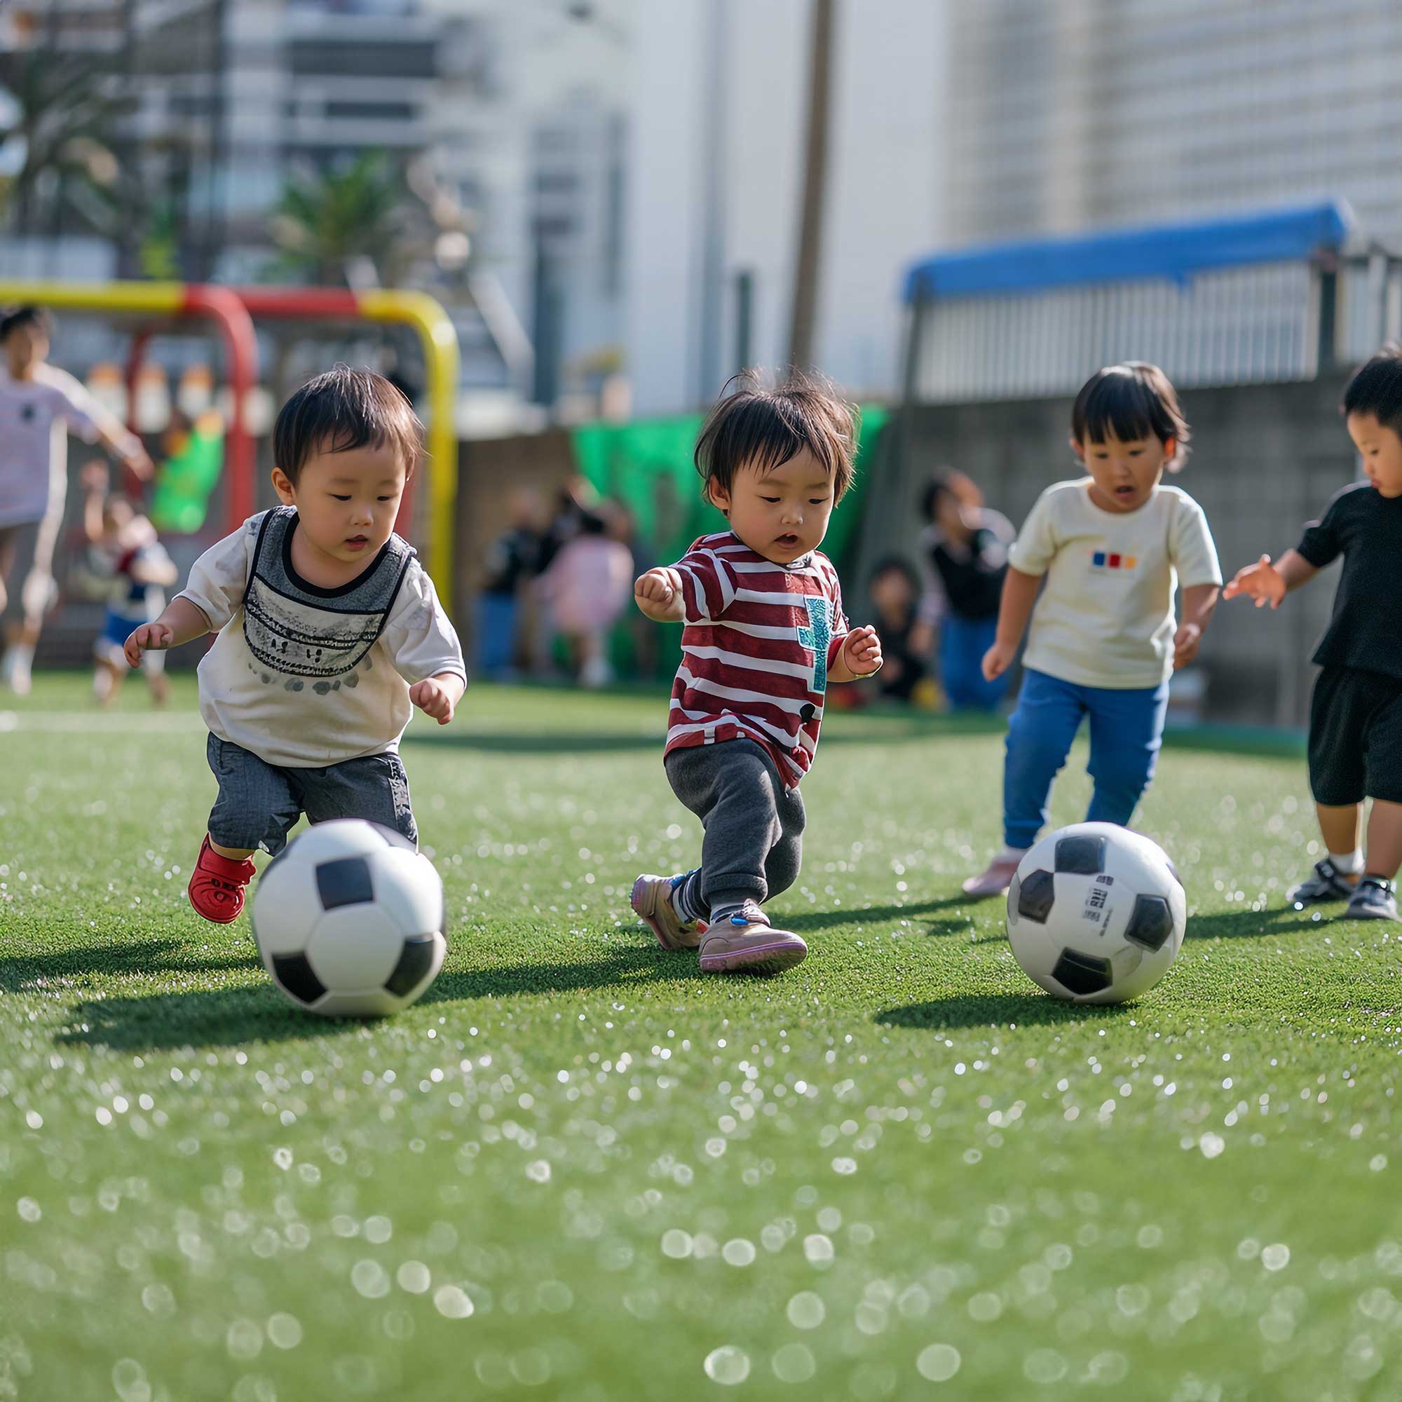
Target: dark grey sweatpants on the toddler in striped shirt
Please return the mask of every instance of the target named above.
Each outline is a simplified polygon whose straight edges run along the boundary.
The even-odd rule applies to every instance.
[[[788,890],[803,859],[803,798],[785,789],[753,740],[673,750],[663,761],[672,792],[701,819],[701,866],[679,892],[679,914],[701,920],[723,906]]]

